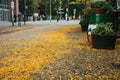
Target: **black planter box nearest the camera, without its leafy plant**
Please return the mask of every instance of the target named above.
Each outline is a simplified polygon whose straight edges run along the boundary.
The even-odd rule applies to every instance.
[[[97,49],[114,49],[116,36],[92,35],[92,47]]]

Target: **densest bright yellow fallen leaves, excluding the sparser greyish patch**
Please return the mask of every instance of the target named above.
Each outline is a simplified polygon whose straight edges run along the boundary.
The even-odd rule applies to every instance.
[[[16,40],[9,41],[6,40],[7,38],[5,36],[4,40],[6,41],[0,42],[0,79],[33,80],[34,78],[31,76],[31,73],[36,71],[41,72],[42,68],[45,65],[49,65],[49,63],[54,63],[57,59],[62,58],[66,54],[69,55],[77,49],[81,51],[85,50],[86,52],[120,52],[119,39],[117,41],[115,50],[98,50],[91,48],[90,46],[88,46],[86,33],[79,31],[78,28],[79,26],[70,26],[61,28],[59,30],[39,32],[33,39],[29,40],[28,42]],[[74,35],[71,33],[78,33],[78,35]],[[116,54],[116,57],[119,55],[120,54]],[[102,58],[101,56],[99,56],[98,58],[99,59],[96,60],[98,60],[99,62]],[[117,61],[120,61],[120,58],[117,58]],[[88,60],[87,62],[91,61],[89,60],[89,58],[86,58],[86,60]],[[88,70],[93,69],[90,64],[85,66]],[[120,75],[120,71],[116,72],[116,75],[117,76],[115,77],[117,79]],[[58,76],[58,80],[62,80],[61,77],[62,76]],[[75,78],[76,80],[83,80],[83,78],[80,76],[73,76],[71,74],[69,75],[69,80],[75,80]],[[84,78],[86,80],[91,80],[92,75],[86,74],[84,75]],[[108,80],[109,75],[98,77],[98,80],[103,79]],[[54,75],[51,75],[50,80],[55,80]]]

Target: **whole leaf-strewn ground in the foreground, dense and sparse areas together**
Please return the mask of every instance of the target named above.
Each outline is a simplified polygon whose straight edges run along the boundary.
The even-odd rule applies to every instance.
[[[78,25],[0,41],[0,80],[119,79],[120,39],[114,50],[93,49]]]

